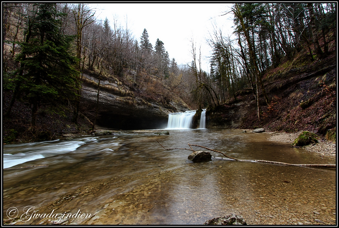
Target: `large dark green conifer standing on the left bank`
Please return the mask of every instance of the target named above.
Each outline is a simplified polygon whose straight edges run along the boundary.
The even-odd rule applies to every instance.
[[[72,38],[59,32],[61,16],[55,3],[37,4],[36,17],[28,26],[28,39],[19,43],[21,53],[17,61],[21,68],[13,82],[20,81],[20,90],[32,105],[33,129],[40,104],[53,104],[76,95],[79,72],[69,51]]]

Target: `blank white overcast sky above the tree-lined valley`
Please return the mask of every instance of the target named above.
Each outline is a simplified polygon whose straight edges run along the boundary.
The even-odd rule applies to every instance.
[[[106,17],[110,22],[114,17],[140,41],[146,28],[153,47],[157,38],[164,43],[169,58],[180,64],[192,62],[192,38],[201,45],[202,69],[209,72],[211,48],[206,43],[213,32],[213,24],[222,28],[223,35],[232,34],[232,14],[219,16],[229,11],[232,4],[219,3],[99,3],[96,8],[98,20]],[[112,24],[111,24],[112,25]]]

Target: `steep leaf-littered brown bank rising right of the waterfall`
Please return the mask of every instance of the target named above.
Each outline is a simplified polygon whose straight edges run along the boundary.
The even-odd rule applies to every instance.
[[[267,106],[260,96],[261,121],[257,117],[252,90],[247,88],[237,92],[236,100],[232,98],[225,104],[207,110],[207,127],[264,127],[287,132],[310,130],[319,134],[334,128],[337,106],[336,55],[298,68],[293,68],[293,61],[264,75],[263,81],[271,103]],[[290,66],[290,69],[286,66]]]

